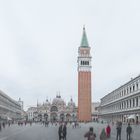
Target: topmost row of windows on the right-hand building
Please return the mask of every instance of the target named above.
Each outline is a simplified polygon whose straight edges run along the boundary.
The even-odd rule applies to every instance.
[[[133,93],[137,90],[140,89],[140,80],[138,80],[136,83],[131,84],[129,86],[123,87],[121,90],[117,90],[117,91],[113,91],[112,93],[110,93],[108,96],[106,96],[103,100],[102,100],[102,104],[114,101],[116,99],[119,99],[121,97],[124,97],[130,93]]]

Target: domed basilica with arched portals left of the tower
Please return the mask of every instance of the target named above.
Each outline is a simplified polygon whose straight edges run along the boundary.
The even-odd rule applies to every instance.
[[[27,111],[28,120],[31,121],[77,121],[77,108],[71,99],[68,104],[60,95],[57,95],[52,102],[48,100],[37,107],[30,107]]]

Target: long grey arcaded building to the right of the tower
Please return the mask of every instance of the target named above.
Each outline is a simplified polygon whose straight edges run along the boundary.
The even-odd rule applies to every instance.
[[[101,99],[100,118],[140,122],[140,75]]]

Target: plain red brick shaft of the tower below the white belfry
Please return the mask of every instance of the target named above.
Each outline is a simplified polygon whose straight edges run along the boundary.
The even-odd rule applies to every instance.
[[[91,121],[91,72],[78,73],[78,119]]]

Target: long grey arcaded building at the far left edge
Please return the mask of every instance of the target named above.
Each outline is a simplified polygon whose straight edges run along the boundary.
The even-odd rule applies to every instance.
[[[20,118],[20,104],[0,91],[0,121],[19,120]]]

